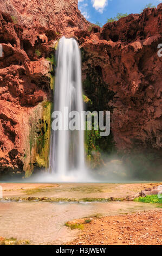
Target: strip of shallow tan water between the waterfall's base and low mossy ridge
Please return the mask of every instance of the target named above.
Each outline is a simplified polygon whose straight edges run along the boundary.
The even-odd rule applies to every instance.
[[[161,184],[161,183],[160,183]],[[3,197],[123,198],[160,184],[0,184]],[[162,185],[162,184],[161,184]]]

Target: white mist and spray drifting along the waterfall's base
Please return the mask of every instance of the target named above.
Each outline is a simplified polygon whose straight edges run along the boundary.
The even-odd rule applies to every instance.
[[[84,183],[142,183],[161,181],[161,157],[152,161],[148,154],[101,154],[103,163],[86,169],[86,175],[72,171],[68,176],[51,175],[40,171],[27,182],[84,182]],[[155,158],[155,157],[154,157]]]

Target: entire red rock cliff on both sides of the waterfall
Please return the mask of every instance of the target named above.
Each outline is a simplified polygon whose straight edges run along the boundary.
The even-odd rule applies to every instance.
[[[120,151],[161,148],[162,4],[92,31],[77,0],[0,4],[0,176],[48,167],[54,54],[62,35],[79,41],[89,109],[111,111],[104,148],[112,140]]]

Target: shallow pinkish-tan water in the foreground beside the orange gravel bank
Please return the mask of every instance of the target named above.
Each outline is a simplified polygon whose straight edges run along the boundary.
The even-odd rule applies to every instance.
[[[160,210],[157,204],[138,202],[43,203],[0,202],[0,236],[28,239],[36,245],[61,245],[73,240],[80,230],[64,226],[67,221],[96,214],[118,215],[127,212]]]

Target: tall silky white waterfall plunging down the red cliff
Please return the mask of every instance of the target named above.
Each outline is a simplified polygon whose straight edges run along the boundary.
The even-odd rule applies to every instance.
[[[63,127],[69,124],[69,113],[83,111],[81,54],[77,41],[64,36],[59,41],[54,92],[54,111],[63,115]],[[64,113],[66,109],[66,113]],[[81,123],[82,120],[80,120]],[[49,172],[68,176],[85,170],[84,131],[62,129],[51,131]]]

